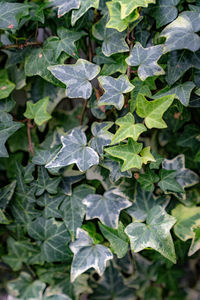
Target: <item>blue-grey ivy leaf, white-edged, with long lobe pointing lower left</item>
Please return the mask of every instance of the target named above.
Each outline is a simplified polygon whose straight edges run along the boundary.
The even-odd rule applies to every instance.
[[[98,154],[87,147],[85,133],[81,128],[74,128],[66,136],[61,137],[62,148],[45,166],[46,168],[61,168],[76,163],[81,172],[99,163]]]

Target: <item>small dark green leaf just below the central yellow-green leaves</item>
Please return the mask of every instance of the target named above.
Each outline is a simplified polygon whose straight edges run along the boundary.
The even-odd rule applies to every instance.
[[[137,181],[140,183],[141,187],[144,190],[153,192],[155,189],[154,183],[159,181],[159,177],[155,174],[154,171],[148,168],[144,174],[139,175]]]

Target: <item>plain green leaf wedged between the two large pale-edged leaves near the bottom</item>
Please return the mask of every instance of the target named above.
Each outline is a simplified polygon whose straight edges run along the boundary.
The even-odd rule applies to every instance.
[[[100,222],[98,224],[102,234],[109,241],[117,257],[124,257],[128,251],[128,237],[124,233],[123,224],[120,222],[118,229],[110,228],[101,224]]]

